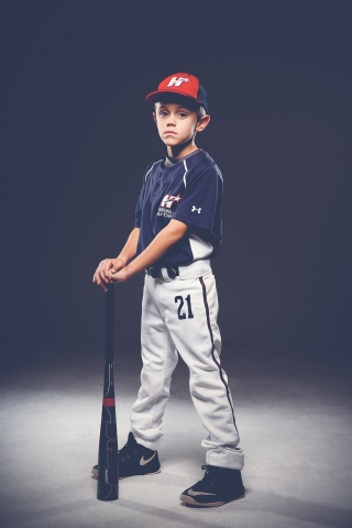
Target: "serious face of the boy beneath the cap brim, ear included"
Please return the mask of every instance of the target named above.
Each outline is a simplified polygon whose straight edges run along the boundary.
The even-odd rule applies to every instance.
[[[209,116],[198,117],[197,111],[176,102],[156,102],[154,121],[161,140],[167,146],[190,142],[209,122]]]

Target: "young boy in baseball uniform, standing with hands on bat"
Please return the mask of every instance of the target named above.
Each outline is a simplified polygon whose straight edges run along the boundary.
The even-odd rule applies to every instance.
[[[243,452],[228,378],[220,365],[218,297],[210,258],[221,242],[222,176],[195,143],[209,124],[207,94],[185,73],[163,80],[146,100],[166,156],[146,167],[135,223],[117,258],[102,261],[94,283],[107,285],[145,272],[141,388],[131,432],[119,451],[120,477],[161,472],[157,448],[178,354],[189,367],[190,396],[208,431],[204,479],[180,501],[220,506],[244,496]],[[97,476],[97,466],[92,473]]]

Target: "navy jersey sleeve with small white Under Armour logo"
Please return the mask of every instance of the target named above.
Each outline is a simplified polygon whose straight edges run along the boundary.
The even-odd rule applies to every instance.
[[[222,193],[221,175],[213,167],[200,168],[196,173],[189,172],[185,176],[186,188],[184,196],[177,205],[173,218],[188,226],[196,226],[209,231]]]

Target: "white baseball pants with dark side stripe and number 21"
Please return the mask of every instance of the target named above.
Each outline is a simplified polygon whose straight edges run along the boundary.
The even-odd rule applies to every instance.
[[[141,344],[141,388],[131,410],[131,430],[139,443],[156,450],[178,354],[189,367],[190,396],[208,431],[201,446],[207,464],[242,470],[244,455],[228,377],[220,366],[218,295],[209,261],[179,267],[165,279],[145,275]]]

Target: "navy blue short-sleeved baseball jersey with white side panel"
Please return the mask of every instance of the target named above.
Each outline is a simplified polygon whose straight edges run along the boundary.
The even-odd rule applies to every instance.
[[[201,150],[173,166],[166,166],[164,160],[148,165],[135,209],[134,226],[141,229],[138,254],[173,218],[188,226],[187,233],[156,265],[168,267],[215,257],[222,237],[222,188],[219,167]]]

